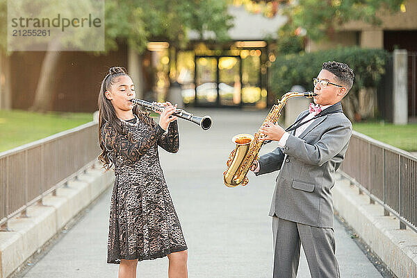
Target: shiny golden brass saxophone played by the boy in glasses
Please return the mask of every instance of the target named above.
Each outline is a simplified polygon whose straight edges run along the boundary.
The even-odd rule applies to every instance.
[[[288,92],[282,96],[281,101],[278,101],[277,104],[273,105],[268,116],[266,116],[265,121],[270,121],[276,123],[281,116],[281,110],[286,105],[288,98],[293,98],[295,96],[304,96],[306,98],[312,98],[316,96],[313,92]],[[263,121],[262,125],[265,124]],[[253,136],[252,134],[237,134],[231,139],[236,148],[232,150],[227,159],[227,170],[223,173],[224,184],[228,187],[235,187],[239,184],[245,186],[249,179],[246,177],[247,172],[249,171],[250,166],[252,166],[255,159],[259,159],[258,153],[261,150],[263,141],[260,138],[263,136],[261,132],[256,132]]]

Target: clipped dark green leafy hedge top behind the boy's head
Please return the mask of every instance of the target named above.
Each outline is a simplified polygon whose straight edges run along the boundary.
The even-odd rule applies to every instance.
[[[327,61],[344,62],[354,71],[355,94],[362,87],[377,87],[385,73],[389,53],[384,49],[360,49],[357,46],[345,47],[312,53],[288,54],[278,56],[270,68],[270,89],[277,97],[289,92],[293,85],[302,85],[313,90],[313,78]]]

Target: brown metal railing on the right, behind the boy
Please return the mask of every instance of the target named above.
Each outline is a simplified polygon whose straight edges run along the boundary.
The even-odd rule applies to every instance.
[[[417,232],[417,157],[353,131],[340,170],[385,215],[398,218],[400,229]]]

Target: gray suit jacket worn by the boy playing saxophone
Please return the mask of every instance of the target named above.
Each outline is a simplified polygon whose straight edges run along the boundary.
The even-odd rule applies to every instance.
[[[341,109],[341,105],[327,109]],[[280,170],[269,215],[315,227],[333,227],[330,189],[334,172],[345,157],[352,123],[342,112],[327,114],[313,120],[300,137],[294,134],[291,132],[284,148],[259,159],[256,175]]]

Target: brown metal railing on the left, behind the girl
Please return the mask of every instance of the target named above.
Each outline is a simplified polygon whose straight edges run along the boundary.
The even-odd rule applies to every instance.
[[[94,167],[99,154],[92,121],[0,153],[0,229],[60,186]]]

